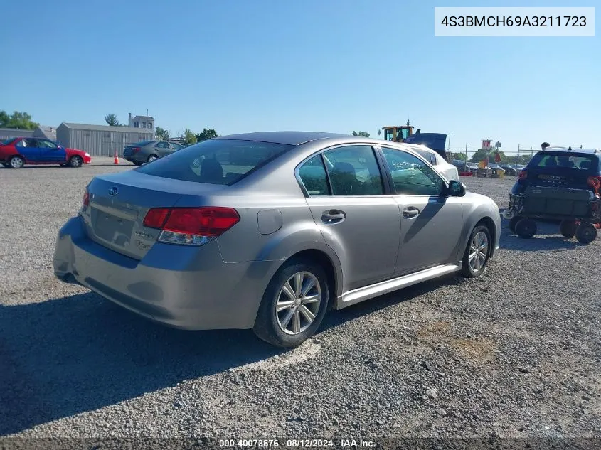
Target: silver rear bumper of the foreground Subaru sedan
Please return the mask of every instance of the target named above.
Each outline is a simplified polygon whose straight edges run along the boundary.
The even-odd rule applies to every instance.
[[[157,242],[142,261],[102,247],[79,217],[60,229],[55,276],[174,328],[252,328],[276,262],[225,263],[216,241],[203,247]]]

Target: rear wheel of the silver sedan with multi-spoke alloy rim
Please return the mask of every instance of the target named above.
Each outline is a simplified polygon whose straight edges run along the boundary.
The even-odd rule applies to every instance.
[[[297,286],[300,277],[304,294]],[[319,301],[305,304],[303,299],[309,297]],[[296,347],[317,331],[328,309],[328,301],[329,285],[324,269],[311,261],[292,259],[284,263],[267,285],[252,331],[258,338],[277,347]]]

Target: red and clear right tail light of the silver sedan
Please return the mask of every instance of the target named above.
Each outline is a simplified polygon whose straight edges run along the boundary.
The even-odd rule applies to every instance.
[[[144,217],[144,226],[162,230],[162,242],[202,245],[239,221],[233,208],[151,208]]]

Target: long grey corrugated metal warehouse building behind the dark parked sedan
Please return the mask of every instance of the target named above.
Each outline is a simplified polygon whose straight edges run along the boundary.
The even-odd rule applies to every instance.
[[[62,146],[87,151],[92,156],[123,154],[126,145],[154,139],[152,130],[133,127],[70,124],[63,122],[56,129],[56,140]]]

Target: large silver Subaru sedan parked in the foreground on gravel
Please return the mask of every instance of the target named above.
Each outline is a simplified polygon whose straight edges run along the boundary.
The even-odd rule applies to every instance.
[[[299,345],[328,309],[498,248],[488,197],[406,144],[314,132],[220,136],[96,176],[60,229],[55,275],[154,321]]]

